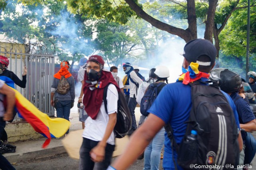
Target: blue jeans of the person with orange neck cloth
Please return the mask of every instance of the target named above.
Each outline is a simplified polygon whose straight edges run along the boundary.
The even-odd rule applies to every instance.
[[[64,118],[69,121],[70,107],[71,107],[71,100],[57,101],[56,102],[57,117]],[[69,129],[66,133],[68,132],[69,132]]]

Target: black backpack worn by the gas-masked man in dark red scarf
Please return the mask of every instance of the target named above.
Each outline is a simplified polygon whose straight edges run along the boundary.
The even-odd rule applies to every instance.
[[[108,84],[104,88],[103,92],[103,101],[106,113],[108,114],[108,108],[107,108],[107,91],[108,91]],[[130,110],[128,108],[128,105],[126,103],[126,100],[124,98],[124,94],[119,91],[118,92],[118,103],[117,103],[117,114],[116,114],[116,125],[114,127],[114,132],[116,134],[116,138],[122,138],[126,134],[128,134],[129,130],[132,127],[132,116],[130,114]]]

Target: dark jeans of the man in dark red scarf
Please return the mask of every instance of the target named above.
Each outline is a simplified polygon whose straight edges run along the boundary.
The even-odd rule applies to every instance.
[[[115,145],[108,144],[105,148],[105,159],[102,162],[93,162],[90,157],[90,151],[99,141],[83,138],[83,143],[79,154],[79,170],[106,170],[111,163],[112,154],[115,150]]]

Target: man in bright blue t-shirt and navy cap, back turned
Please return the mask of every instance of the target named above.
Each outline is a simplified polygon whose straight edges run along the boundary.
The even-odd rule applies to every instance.
[[[112,166],[108,167],[108,170],[122,170],[128,168],[166,123],[170,123],[177,144],[181,142],[187,127],[184,122],[188,120],[192,107],[191,87],[188,83],[199,79],[201,79],[201,81],[208,80],[209,74],[207,73],[209,73],[215,65],[216,53],[216,48],[208,40],[195,39],[185,45],[183,54],[184,61],[182,64],[184,74],[178,79],[179,82],[170,83],[162,89],[152,107],[148,110],[150,114],[148,115],[147,121],[132,134],[126,149],[112,163]],[[188,68],[190,69],[187,71]],[[191,71],[192,68],[193,71]],[[194,75],[190,76],[192,72]],[[224,93],[224,95],[234,111],[236,125],[240,128],[234,102],[228,94]],[[242,137],[240,132],[238,142],[239,149],[242,150]],[[175,150],[173,155],[175,162],[177,162]],[[165,170],[174,170],[174,167],[170,139],[167,134],[165,134],[163,168]],[[178,169],[182,170],[180,166],[178,166]]]

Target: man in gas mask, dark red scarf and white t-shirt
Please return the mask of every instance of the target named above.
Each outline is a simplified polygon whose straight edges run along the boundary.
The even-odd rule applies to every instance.
[[[111,162],[115,149],[116,112],[118,91],[110,71],[103,69],[104,60],[92,55],[86,64],[84,74],[84,109],[88,115],[85,121],[83,142],[80,148],[80,170],[104,170]],[[108,85],[106,100],[108,113],[103,101],[104,88]]]

